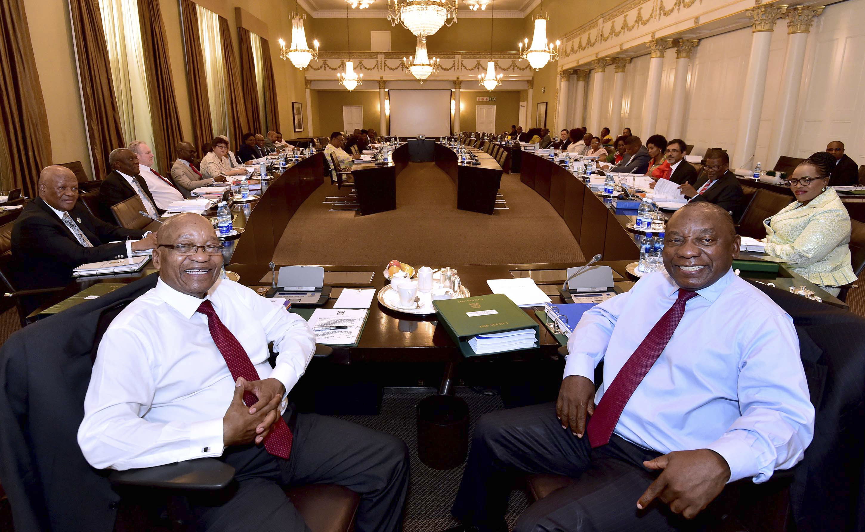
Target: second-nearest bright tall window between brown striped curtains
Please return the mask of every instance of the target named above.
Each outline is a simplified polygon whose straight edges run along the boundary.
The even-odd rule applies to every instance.
[[[202,39],[202,55],[204,56],[204,77],[208,80],[208,98],[210,99],[210,118],[214,126],[214,136],[228,135],[228,109],[225,104],[225,63],[222,59],[222,41],[219,31],[219,16],[210,9],[195,5],[198,13],[198,34]],[[228,39],[230,35],[226,35]],[[239,138],[230,138],[236,147]],[[235,148],[236,149],[236,148]]]

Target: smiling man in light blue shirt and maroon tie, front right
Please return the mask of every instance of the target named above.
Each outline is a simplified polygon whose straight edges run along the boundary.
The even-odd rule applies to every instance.
[[[558,402],[477,421],[453,508],[462,529],[507,530],[519,472],[577,480],[530,506],[516,532],[699,526],[728,483],[766,482],[802,459],[814,407],[796,329],[734,274],[733,220],[689,203],[665,243],[663,271],[583,314]]]

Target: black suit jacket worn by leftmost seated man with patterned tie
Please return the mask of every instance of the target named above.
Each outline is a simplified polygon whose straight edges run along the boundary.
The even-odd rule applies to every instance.
[[[80,204],[68,212],[93,247],[79,244],[57,213],[41,198],[34,199],[24,207],[12,227],[12,260],[16,264],[17,288],[66,286],[76,266],[126,257],[126,244],[108,244],[112,240],[144,235],[144,231],[124,229],[94,218]]]

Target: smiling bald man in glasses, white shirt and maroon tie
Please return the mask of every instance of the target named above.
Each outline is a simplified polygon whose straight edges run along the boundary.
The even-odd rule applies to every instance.
[[[309,530],[282,489],[306,484],[360,494],[359,532],[400,529],[406,445],[292,411],[286,394],[304,375],[315,337],[279,300],[220,280],[222,247],[198,214],[179,214],[159,231],[156,288],[125,307],[99,342],[78,430],[84,457],[121,471],[205,457],[234,466],[234,488],[189,499],[199,530]]]

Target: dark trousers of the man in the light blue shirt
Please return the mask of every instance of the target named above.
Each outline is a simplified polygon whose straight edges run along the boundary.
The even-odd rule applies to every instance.
[[[501,410],[477,421],[453,515],[482,530],[507,530],[503,516],[517,475],[552,473],[579,478],[522,513],[515,532],[607,532],[702,529],[656,501],[637,500],[659,472],[643,466],[659,453],[613,434],[592,449],[588,438],[561,428],[552,402]]]

